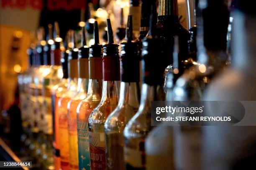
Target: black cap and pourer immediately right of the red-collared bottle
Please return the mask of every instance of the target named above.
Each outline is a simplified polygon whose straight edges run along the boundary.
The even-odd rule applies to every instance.
[[[132,15],[128,16],[125,41],[121,43],[120,75],[123,82],[139,82],[140,57],[138,56],[137,43],[133,41]]]

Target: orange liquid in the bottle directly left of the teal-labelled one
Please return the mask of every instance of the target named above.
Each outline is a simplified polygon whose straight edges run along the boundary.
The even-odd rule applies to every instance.
[[[82,100],[70,100],[68,103],[70,170],[78,170],[77,106],[81,101]]]

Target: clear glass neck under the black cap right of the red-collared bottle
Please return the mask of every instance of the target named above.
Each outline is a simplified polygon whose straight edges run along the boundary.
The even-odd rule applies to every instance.
[[[139,83],[138,82],[121,82],[120,96],[118,105],[128,104],[133,108],[139,106]]]

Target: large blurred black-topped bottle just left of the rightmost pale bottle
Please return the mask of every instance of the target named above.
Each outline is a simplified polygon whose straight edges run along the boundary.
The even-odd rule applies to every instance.
[[[205,88],[225,68],[227,7],[224,6],[223,0],[212,1],[202,10],[202,13],[198,8],[197,13],[198,60],[176,81],[173,100],[202,100]],[[218,28],[212,22],[214,19],[218,19]],[[174,143],[179,144],[175,147],[176,168],[202,169],[202,128],[198,126],[175,127],[174,139]]]

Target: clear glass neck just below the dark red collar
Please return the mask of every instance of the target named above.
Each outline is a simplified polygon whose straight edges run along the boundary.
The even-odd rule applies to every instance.
[[[111,103],[118,104],[120,81],[103,81],[101,102],[111,99]]]

